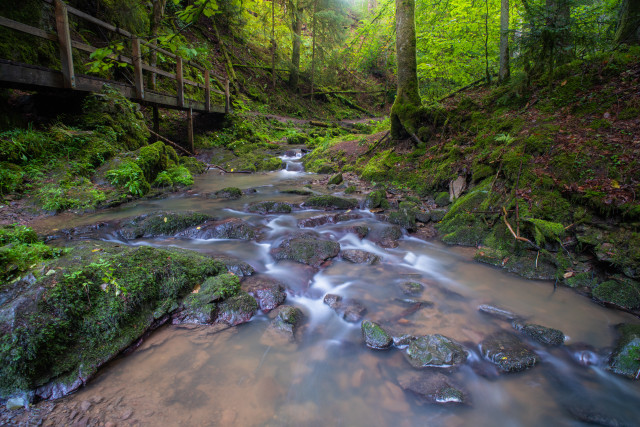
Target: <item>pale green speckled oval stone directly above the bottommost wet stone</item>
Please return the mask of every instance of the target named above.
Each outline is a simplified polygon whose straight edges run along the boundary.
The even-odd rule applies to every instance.
[[[467,360],[467,352],[461,344],[439,334],[411,341],[405,355],[414,368],[455,366]]]

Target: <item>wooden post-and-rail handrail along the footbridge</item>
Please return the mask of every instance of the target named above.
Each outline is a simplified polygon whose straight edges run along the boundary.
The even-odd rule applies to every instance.
[[[135,95],[139,99],[145,99],[145,87],[144,87],[144,79],[143,72],[151,72],[163,77],[172,79],[176,81],[176,91],[177,91],[177,106],[179,108],[191,108],[191,100],[186,102],[184,85],[193,86],[198,89],[202,89],[204,91],[205,100],[205,110],[211,111],[211,93],[216,93],[224,96],[224,106],[225,112],[230,111],[230,92],[229,92],[229,79],[228,77],[220,76],[214,73],[211,70],[207,70],[205,67],[200,64],[193,62],[191,60],[184,60],[180,56],[169,52],[165,49],[159,48],[152,43],[149,43],[143,39],[140,39],[133,35],[132,33],[122,29],[115,27],[111,24],[108,24],[104,21],[101,21],[85,12],[82,12],[74,7],[71,7],[64,3],[62,0],[42,0],[44,3],[50,4],[53,6],[55,17],[56,17],[56,34],[49,33],[43,29],[35,28],[27,24],[23,24],[21,22],[17,22],[5,17],[0,16],[0,26],[5,28],[10,28],[16,31],[20,31],[26,34],[30,34],[32,36],[36,36],[45,40],[53,41],[58,43],[58,47],[60,49],[60,60],[61,60],[61,68],[62,68],[62,76],[63,76],[63,84],[64,87],[68,89],[74,89],[76,87],[75,84],[75,70],[73,66],[73,53],[72,48],[78,49],[83,52],[93,53],[98,48],[87,45],[80,41],[72,40],[70,35],[69,28],[69,18],[68,14],[72,14],[76,17],[82,18],[92,24],[98,25],[102,28],[105,28],[111,32],[119,34],[123,37],[127,37],[131,40],[132,52],[131,57],[125,55],[116,55],[112,54],[109,57],[111,59],[117,60],[119,62],[124,62],[129,65],[134,66],[134,80],[135,80]],[[162,70],[158,67],[151,66],[149,64],[145,64],[142,60],[142,50],[141,46],[148,47],[149,49],[154,49],[155,51],[170,57],[176,61],[176,70],[175,73],[171,73],[165,70]],[[192,81],[183,77],[184,67],[192,67],[198,70],[204,80],[204,83],[199,83],[196,81]],[[214,78],[218,81],[218,84],[222,90],[212,89],[211,88],[211,78]],[[188,105],[187,105],[188,104]]]

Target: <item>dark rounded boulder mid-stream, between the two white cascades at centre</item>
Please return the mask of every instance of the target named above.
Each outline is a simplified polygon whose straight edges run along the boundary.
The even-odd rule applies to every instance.
[[[276,260],[290,260],[318,267],[340,253],[340,243],[313,234],[295,234],[271,249]]]

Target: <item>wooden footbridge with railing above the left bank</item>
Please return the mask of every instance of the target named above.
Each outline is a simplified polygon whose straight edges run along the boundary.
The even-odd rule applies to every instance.
[[[180,56],[157,47],[134,34],[117,28],[93,16],[66,5],[61,0],[42,0],[47,7],[53,7],[56,32],[48,32],[21,22],[0,16],[0,27],[19,31],[58,45],[60,52],[60,69],[51,69],[37,64],[24,64],[10,59],[0,58],[0,85],[3,87],[43,90],[57,89],[76,92],[100,92],[105,84],[117,89],[126,98],[143,105],[154,107],[154,130],[158,132],[158,108],[170,108],[188,112],[189,143],[193,151],[192,112],[229,113],[231,110],[229,97],[229,80],[219,76],[193,61],[184,60]],[[84,20],[115,33],[128,46],[130,55],[122,52],[112,54],[109,60],[118,64],[133,67],[133,76],[128,81],[116,81],[81,74],[76,64],[87,59],[88,55],[98,48],[86,44],[79,36],[72,36],[70,15],[75,20]],[[156,52],[163,59],[163,67],[145,63]],[[170,67],[169,69],[167,69]],[[160,85],[165,92],[152,90],[145,85],[145,73],[155,82],[164,80]],[[185,78],[187,75],[189,78]],[[166,82],[169,82],[168,84]],[[218,89],[212,87],[212,82]],[[217,96],[218,101],[212,100]]]

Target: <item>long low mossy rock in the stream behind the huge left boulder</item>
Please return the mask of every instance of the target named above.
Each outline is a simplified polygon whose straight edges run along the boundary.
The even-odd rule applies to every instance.
[[[121,222],[119,234],[127,240],[175,236],[211,219],[212,216],[198,212],[154,212]]]

